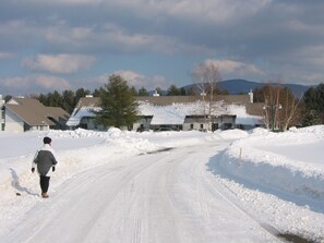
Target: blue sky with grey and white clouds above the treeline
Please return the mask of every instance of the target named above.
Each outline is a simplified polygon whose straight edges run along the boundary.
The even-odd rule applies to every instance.
[[[136,88],[223,80],[324,82],[324,1],[0,0],[0,94]]]

